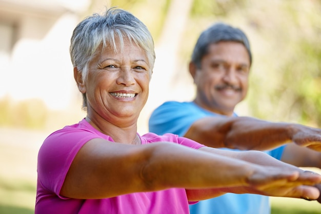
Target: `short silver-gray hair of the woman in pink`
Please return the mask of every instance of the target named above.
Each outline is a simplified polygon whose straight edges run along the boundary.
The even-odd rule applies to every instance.
[[[144,23],[133,14],[113,7],[80,22],[71,36],[70,56],[73,67],[82,73],[83,82],[87,79],[88,64],[97,54],[97,49],[103,45],[103,48],[111,46],[115,52],[122,51],[126,39],[146,52],[151,75],[155,62],[153,38]],[[117,50],[116,40],[121,50]],[[83,108],[86,106],[86,94],[83,94]]]

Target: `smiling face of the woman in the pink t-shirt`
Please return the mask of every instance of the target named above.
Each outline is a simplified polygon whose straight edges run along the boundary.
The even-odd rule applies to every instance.
[[[117,41],[116,47],[117,53],[110,46],[99,49],[89,63],[84,90],[91,120],[137,120],[147,101],[151,68],[145,51],[127,40],[123,51]]]

